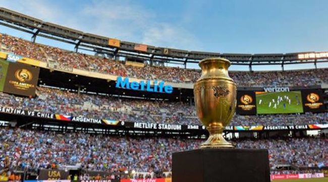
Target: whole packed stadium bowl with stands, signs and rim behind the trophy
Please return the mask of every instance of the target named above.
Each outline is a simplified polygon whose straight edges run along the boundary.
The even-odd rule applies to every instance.
[[[208,137],[194,106],[201,71],[187,68],[207,57],[249,69],[229,71],[237,106],[224,137],[267,149],[272,181],[328,180],[328,69],[317,68],[328,52],[189,51],[41,19],[0,8],[1,27],[31,35],[0,31],[0,181],[171,181],[172,154]],[[303,64],[315,69],[285,70]]]

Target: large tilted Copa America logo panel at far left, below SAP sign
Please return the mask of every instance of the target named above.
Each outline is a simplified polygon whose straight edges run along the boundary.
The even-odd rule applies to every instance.
[[[4,92],[34,96],[39,78],[39,68],[20,63],[9,63]]]

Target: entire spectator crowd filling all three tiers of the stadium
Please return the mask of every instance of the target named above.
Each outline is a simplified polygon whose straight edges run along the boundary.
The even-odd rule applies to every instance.
[[[134,67],[124,62],[76,53],[0,34],[0,45],[9,52],[49,64],[140,79],[175,83],[195,82],[199,70],[171,67]],[[317,74],[319,73],[319,74]],[[230,72],[239,86],[306,86],[328,83],[328,69],[288,72]],[[59,89],[37,88],[35,98],[0,93],[0,106],[126,122],[200,125],[194,106],[182,102],[148,101]],[[238,115],[232,126],[308,125],[328,123],[328,113]],[[201,140],[129,138],[86,133],[55,133],[36,130],[0,129],[0,168],[8,157],[10,167],[53,168],[78,165],[86,170],[122,172],[171,171],[173,152],[198,148]],[[236,140],[237,148],[266,148],[270,167],[286,163],[315,167],[326,162],[326,138]],[[151,144],[151,145],[149,145]],[[7,159],[6,159],[7,160]]]

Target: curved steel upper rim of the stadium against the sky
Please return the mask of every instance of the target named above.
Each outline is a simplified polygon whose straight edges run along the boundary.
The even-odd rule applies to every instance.
[[[91,50],[109,56],[130,56],[144,60],[161,61],[167,63],[199,63],[206,57],[220,56],[229,59],[232,65],[246,65],[249,69],[256,65],[284,65],[328,62],[328,52],[294,52],[294,53],[267,53],[267,54],[240,54],[221,52],[202,52],[155,47],[135,42],[121,41],[110,37],[85,33],[79,30],[43,22],[12,10],[0,8],[0,25],[11,27],[32,34],[32,41],[36,36],[54,39],[75,45],[75,50]],[[110,43],[110,40],[119,42]]]

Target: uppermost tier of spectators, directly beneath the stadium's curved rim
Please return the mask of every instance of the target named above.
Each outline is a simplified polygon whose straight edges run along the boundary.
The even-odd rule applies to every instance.
[[[200,70],[181,69],[173,67],[125,66],[124,62],[76,53],[57,47],[32,43],[30,41],[0,34],[0,44],[7,51],[45,63],[55,62],[55,65],[75,68],[91,72],[99,72],[117,76],[128,76],[140,79],[158,79],[169,82],[196,82]],[[2,47],[2,46],[0,46]],[[229,72],[229,75],[239,86],[307,86],[328,83],[328,69],[286,71],[286,72]]]

